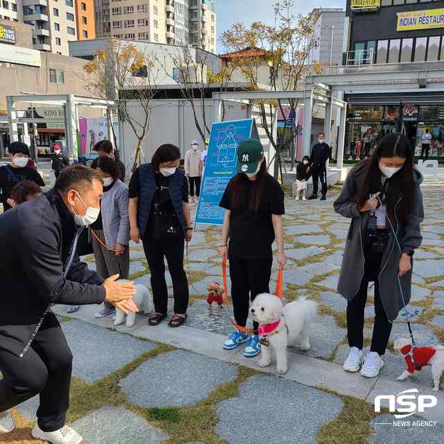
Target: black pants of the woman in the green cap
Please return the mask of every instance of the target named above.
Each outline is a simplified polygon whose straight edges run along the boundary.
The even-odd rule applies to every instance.
[[[260,293],[270,293],[271,264],[270,259],[239,259],[230,256],[231,297],[234,319],[245,327],[250,310],[250,299],[254,300]],[[258,324],[253,323],[257,334]]]

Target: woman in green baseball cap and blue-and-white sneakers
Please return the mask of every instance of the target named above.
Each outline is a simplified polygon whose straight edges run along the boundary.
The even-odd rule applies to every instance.
[[[278,242],[278,264],[287,262],[284,254],[284,192],[275,178],[266,170],[262,144],[256,139],[246,139],[237,148],[238,173],[228,183],[221,207],[227,210],[223,221],[221,254],[230,262],[231,296],[236,323],[245,327],[250,299],[260,293],[270,292],[271,265],[275,239]],[[228,243],[228,239],[230,242]],[[232,350],[248,341],[246,357],[259,354],[257,336],[248,336],[234,330],[223,343],[225,350]]]

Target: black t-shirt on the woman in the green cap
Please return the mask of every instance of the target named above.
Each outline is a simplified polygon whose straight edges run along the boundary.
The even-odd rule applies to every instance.
[[[237,210],[232,208],[232,180],[225,189],[221,207],[230,210],[229,251],[239,259],[268,259],[273,256],[271,246],[275,240],[272,214],[281,215],[284,209],[284,191],[275,178],[266,175],[264,189],[257,212],[250,209],[257,182],[245,178],[248,187],[246,203]]]

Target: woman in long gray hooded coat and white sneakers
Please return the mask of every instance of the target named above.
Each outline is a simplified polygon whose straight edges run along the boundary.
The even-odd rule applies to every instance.
[[[348,173],[334,203],[336,212],[352,219],[338,284],[339,293],[348,300],[350,355],[343,365],[346,371],[357,372],[362,366],[361,375],[375,377],[384,366],[381,356],[391,323],[411,296],[413,253],[422,241],[420,223],[424,219],[421,182],[420,172],[413,167],[409,139],[390,134],[379,141],[369,160]],[[375,326],[370,352],[364,359],[369,282],[375,282]]]

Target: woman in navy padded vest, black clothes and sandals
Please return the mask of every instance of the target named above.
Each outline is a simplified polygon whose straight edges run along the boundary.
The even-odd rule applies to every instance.
[[[157,148],[151,164],[141,165],[130,180],[130,235],[137,244],[142,239],[151,271],[155,314],[148,319],[150,325],[159,324],[167,316],[165,257],[174,293],[169,326],[179,327],[187,318],[189,292],[183,260],[185,241],[191,241],[193,228],[188,182],[179,164],[179,148],[164,144]]]

